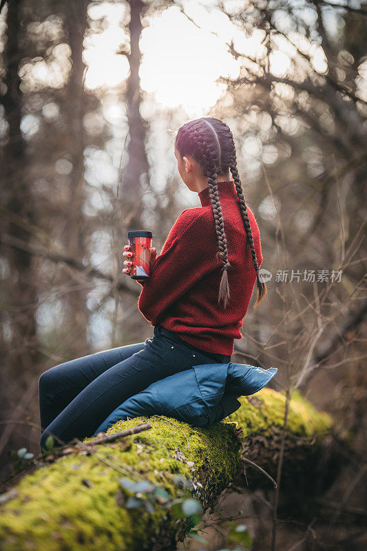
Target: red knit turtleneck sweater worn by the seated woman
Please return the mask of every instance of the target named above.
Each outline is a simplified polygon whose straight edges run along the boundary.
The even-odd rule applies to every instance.
[[[253,293],[256,272],[240,213],[234,180],[218,183],[220,204],[232,268],[228,270],[231,298],[226,309],[218,306],[222,262],[209,188],[198,194],[201,207],[182,211],[171,228],[149,280],[143,287],[138,309],[151,325],[160,324],[202,351],[233,353],[234,339]],[[260,232],[247,206],[258,267],[262,263]]]

